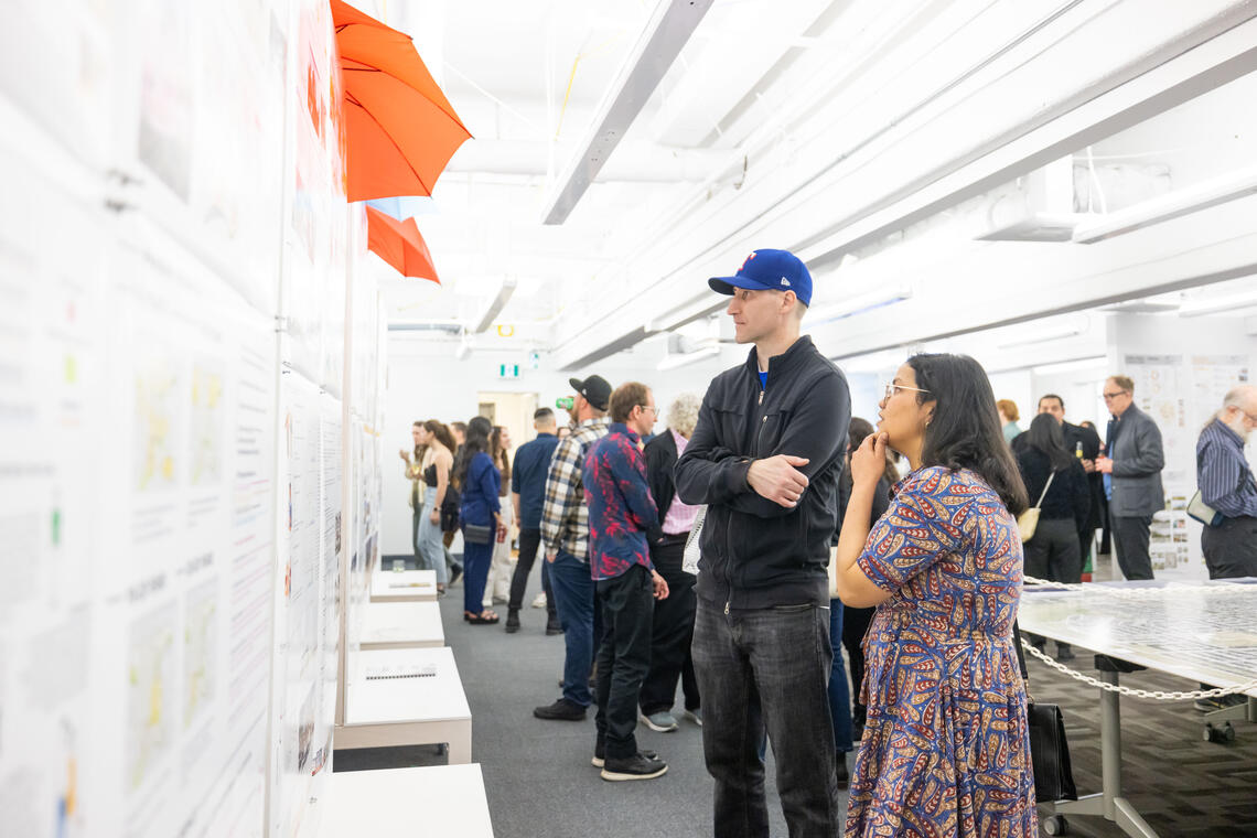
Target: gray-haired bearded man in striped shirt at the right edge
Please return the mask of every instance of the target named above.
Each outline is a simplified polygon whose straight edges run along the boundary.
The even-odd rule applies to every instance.
[[[1257,427],[1257,387],[1241,384],[1200,431],[1195,481],[1217,515],[1200,535],[1210,579],[1257,577],[1257,481],[1244,443]]]

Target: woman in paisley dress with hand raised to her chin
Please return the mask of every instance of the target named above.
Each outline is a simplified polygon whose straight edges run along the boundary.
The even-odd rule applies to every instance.
[[[876,606],[869,707],[847,838],[1033,838],[1035,774],[1013,647],[1026,489],[985,372],[918,354],[895,374],[877,432],[851,457],[835,587]],[[886,446],[911,472],[870,531]]]

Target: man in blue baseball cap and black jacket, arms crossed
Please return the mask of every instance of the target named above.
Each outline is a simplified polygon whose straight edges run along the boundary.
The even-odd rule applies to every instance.
[[[676,492],[706,504],[691,655],[715,834],[767,835],[767,734],[789,834],[841,832],[828,680],[830,536],[851,420],[846,378],[799,337],[812,278],[784,250],[757,250],[730,294],[744,364],[708,387],[676,462]]]

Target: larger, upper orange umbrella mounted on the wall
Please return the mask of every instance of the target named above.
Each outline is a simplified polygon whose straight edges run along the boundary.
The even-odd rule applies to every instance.
[[[344,79],[348,199],[431,195],[471,133],[406,33],[332,1]]]

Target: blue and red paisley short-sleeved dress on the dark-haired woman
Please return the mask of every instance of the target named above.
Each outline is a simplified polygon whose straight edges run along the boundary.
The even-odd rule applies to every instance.
[[[1035,773],[1013,650],[1017,521],[974,472],[895,487],[860,568],[891,592],[865,636],[869,707],[847,838],[1033,838]]]

